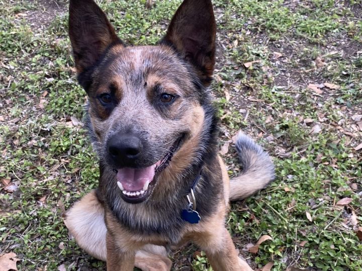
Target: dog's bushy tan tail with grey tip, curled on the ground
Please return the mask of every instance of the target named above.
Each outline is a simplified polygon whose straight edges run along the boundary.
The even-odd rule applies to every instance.
[[[239,133],[236,151],[243,173],[230,180],[229,199],[244,199],[265,188],[275,178],[274,164],[268,154],[249,137]]]

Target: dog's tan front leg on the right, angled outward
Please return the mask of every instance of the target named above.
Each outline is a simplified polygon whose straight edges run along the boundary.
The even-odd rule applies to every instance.
[[[253,271],[238,257],[231,236],[224,226],[198,234],[194,241],[205,250],[215,271]]]

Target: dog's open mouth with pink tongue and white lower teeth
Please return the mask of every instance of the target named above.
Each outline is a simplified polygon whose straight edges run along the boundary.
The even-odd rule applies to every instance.
[[[180,148],[185,138],[182,134],[167,151],[166,155],[156,164],[146,168],[122,168],[117,172],[117,185],[121,189],[121,197],[128,203],[140,203],[146,200],[153,191],[157,177],[171,162],[175,152]]]

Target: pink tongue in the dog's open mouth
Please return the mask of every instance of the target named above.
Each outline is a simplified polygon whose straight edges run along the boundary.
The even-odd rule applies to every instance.
[[[127,191],[140,191],[147,181],[149,183],[152,182],[155,175],[154,169],[155,165],[144,169],[119,169],[117,181],[120,182]]]

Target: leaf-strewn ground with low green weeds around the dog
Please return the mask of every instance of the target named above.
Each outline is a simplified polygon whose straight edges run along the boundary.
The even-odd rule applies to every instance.
[[[99,2],[119,36],[137,45],[156,43],[180,3]],[[16,254],[19,270],[102,270],[63,223],[99,175],[80,122],[86,97],[76,84],[67,2],[0,4],[0,259]],[[242,130],[277,173],[231,206],[226,222],[240,255],[264,271],[362,270],[361,1],[213,4],[220,152],[237,175],[232,137]],[[211,270],[194,246],[171,257],[174,270]]]

